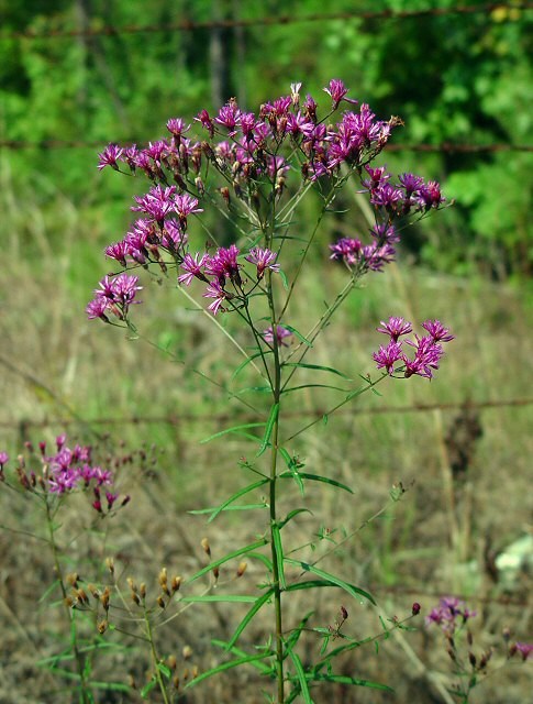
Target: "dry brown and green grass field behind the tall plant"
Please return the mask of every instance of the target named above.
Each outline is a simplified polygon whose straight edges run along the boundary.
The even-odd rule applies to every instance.
[[[125,339],[120,331],[86,322],[79,290],[62,283],[64,268],[60,257],[51,257],[41,271],[21,260],[4,275],[0,449],[5,447],[14,453],[29,436],[34,440],[43,435],[51,438],[63,429],[57,420],[62,418],[71,422],[69,433],[85,442],[98,442],[93,435],[97,431],[100,436],[109,433],[106,447],[118,447],[124,440],[130,448],[155,442],[164,450],[153,472],[140,472],[135,464],[122,470],[121,485],[133,498],[113,519],[106,540],[99,532],[84,530],[88,518],[78,503],[67,509],[62,537],[65,548],[70,542],[73,568],[87,573],[87,579],[93,579],[90,571],[112,553],[118,556],[124,576],[132,574],[155,588],[162,565],[187,576],[203,563],[199,542],[204,535],[216,557],[249,542],[265,529],[260,512],[251,513],[245,520],[240,513],[225,514],[209,526],[204,517],[186,513],[216,505],[246,479],[237,469],[237,460],[251,452],[251,446],[232,437],[208,444],[198,442],[226,421],[180,421],[184,414],[209,416],[222,409],[230,410],[234,419],[230,422],[238,419],[238,405],[227,405],[216,386],[199,391],[198,380],[187,366],[192,363],[223,381],[229,374],[227,361],[231,373],[237,359],[225,341],[214,342],[215,331],[201,317],[177,312],[171,286],[147,284],[146,305],[138,311],[140,328],[149,339],[168,343],[186,364],[171,362],[145,342]],[[338,270],[330,268],[325,275],[309,277],[306,307],[293,311],[297,327],[310,308],[320,307],[324,297],[331,297],[341,276]],[[449,429],[466,402],[531,395],[533,334],[526,304],[512,288],[470,285],[412,268],[396,268],[369,279],[367,289],[354,294],[337,323],[325,332],[313,362],[353,373],[371,371],[370,354],[379,342],[374,329],[390,314],[412,315],[417,320],[438,317],[453,328],[457,339],[431,384],[421,380],[409,384],[387,382],[381,386],[382,397],[363,397],[356,407],[331,418],[327,426],[319,424],[309,435],[300,436],[291,448],[306,459],[309,471],[345,482],[355,493],[310,486],[304,503],[313,513],[293,522],[287,537],[289,549],[312,540],[321,526],[336,530],[335,536],[356,530],[387,503],[390,486],[402,481],[409,491],[393,510],[360,528],[351,541],[324,559],[323,566],[368,588],[389,616],[409,614],[413,601],[422,604],[424,614],[441,594],[464,595],[478,610],[473,622],[476,644],[495,648],[496,664],[504,660],[500,637],[504,626],[522,640],[531,634],[531,575],[517,575],[503,590],[491,572],[493,557],[532,528],[531,407],[477,409],[476,421],[482,430],[477,438],[468,433],[457,438],[460,425],[452,435]],[[309,393],[295,410],[312,415],[325,403]],[[423,411],[417,409],[420,404],[457,407]],[[380,413],[398,406],[410,406],[411,410]],[[103,428],[90,422],[99,417],[148,414],[173,414],[177,421],[109,424]],[[46,428],[33,427],[40,421]],[[290,420],[295,428],[298,422],[298,417]],[[467,450],[467,461],[454,474],[457,443]],[[288,487],[284,501],[287,507],[293,507],[303,499],[296,487]],[[37,515],[25,497],[13,499],[1,492],[0,506],[0,522],[42,535]],[[60,636],[60,609],[51,607],[49,600],[40,602],[54,579],[49,556],[41,541],[26,535],[4,530],[0,540],[0,704],[69,702],[68,692],[51,693],[57,682],[46,669],[35,666],[40,658],[59,650],[66,638]],[[299,554],[317,553],[307,549]],[[233,564],[223,570],[221,579],[230,579],[234,570]],[[253,591],[264,579],[260,565],[252,563],[240,585],[243,591]],[[324,626],[334,620],[344,603],[349,610],[346,632],[365,637],[379,631],[375,610],[347,604],[341,593],[334,597],[331,594],[319,594],[310,602],[308,593],[302,593],[290,606],[287,623],[298,623],[312,609],[313,625]],[[236,606],[193,606],[162,630],[162,649],[179,656],[182,647],[190,645],[195,662],[200,668],[210,667],[220,657],[210,645],[211,638],[227,638],[240,613],[242,608]],[[365,647],[340,666],[345,672],[390,684],[397,690],[396,698],[363,688],[332,688],[318,694],[317,701],[444,701],[427,678],[429,672],[449,672],[442,639],[437,632],[427,632],[422,619],[418,625],[420,631],[403,634],[402,642],[391,638],[382,644],[378,656],[373,646]],[[263,642],[266,632],[268,622],[259,618],[243,644],[251,645],[254,639]],[[116,634],[111,638],[118,640]],[[317,636],[308,634],[309,658],[315,657],[319,647]],[[133,672],[142,681],[146,661],[132,645],[130,651],[106,656],[98,669],[102,678],[109,678],[111,670],[116,680]],[[244,670],[226,673],[192,690],[184,701],[264,701],[262,684],[252,675]],[[495,671],[474,692],[471,702],[522,704],[529,691],[531,668],[511,663]],[[108,693],[99,701],[140,700],[135,694],[113,698]]]

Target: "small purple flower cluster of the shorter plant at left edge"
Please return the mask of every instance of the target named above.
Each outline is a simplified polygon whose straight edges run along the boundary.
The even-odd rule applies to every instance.
[[[58,436],[55,442],[55,451],[52,454],[46,452],[45,442],[38,443],[38,458],[41,461],[41,471],[38,473],[33,470],[27,471],[24,458],[20,455],[15,469],[20,484],[27,491],[41,491],[57,496],[76,490],[91,488],[95,496],[92,507],[101,514],[109,513],[119,498],[119,494],[112,491],[112,473],[97,464],[92,464],[90,447],[76,444],[70,449],[66,442],[65,435]],[[31,443],[26,443],[26,449],[30,452],[34,452]],[[8,453],[0,452],[0,481],[2,482],[5,481],[4,466],[8,462]],[[121,505],[125,505],[129,501],[130,498],[125,496]]]

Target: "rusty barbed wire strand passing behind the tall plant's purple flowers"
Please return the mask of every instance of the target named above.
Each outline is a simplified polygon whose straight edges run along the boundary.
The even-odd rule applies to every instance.
[[[144,140],[115,140],[120,144],[143,144]],[[0,148],[10,151],[22,150],[101,150],[107,145],[104,141],[84,142],[79,140],[41,140],[25,142],[22,140],[0,140]],[[443,142],[442,144],[388,144],[388,152],[423,152],[427,154],[487,154],[496,152],[533,152],[533,144],[464,144]]]

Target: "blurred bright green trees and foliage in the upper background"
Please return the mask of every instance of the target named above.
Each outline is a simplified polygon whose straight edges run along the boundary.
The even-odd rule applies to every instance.
[[[533,263],[531,151],[443,152],[438,146],[529,144],[533,10],[511,2],[489,11],[473,1],[469,7],[478,11],[462,13],[454,12],[455,4],[337,0],[329,13],[351,16],[304,21],[323,12],[323,3],[9,3],[0,40],[2,139],[90,146],[3,150],[4,188],[7,182],[18,200],[45,201],[51,218],[67,195],[92,216],[100,210],[108,220],[114,213],[118,226],[115,198],[122,200],[129,184],[97,178],[96,146],[154,140],[164,134],[169,116],[196,114],[231,96],[249,107],[288,90],[290,81],[304,80],[307,89],[318,90],[337,76],[378,114],[404,119],[407,129],[395,135],[396,143],[435,147],[431,154],[402,152],[399,157],[440,178],[458,200],[447,220],[431,223],[429,239],[411,239],[413,254],[441,271],[481,272],[499,279],[528,276]],[[423,9],[448,12],[357,14]],[[281,15],[290,21],[260,22]],[[227,20],[229,26],[210,29],[213,19]],[[235,20],[244,25],[232,25]],[[170,29],[180,23],[190,29]],[[103,28],[116,32],[98,33]],[[65,30],[77,34],[54,35]],[[393,169],[395,158],[387,160]]]

